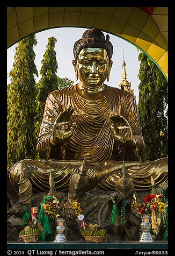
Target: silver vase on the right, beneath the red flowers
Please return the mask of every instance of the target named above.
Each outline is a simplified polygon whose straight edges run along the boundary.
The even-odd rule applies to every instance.
[[[141,243],[152,243],[152,236],[151,236],[151,223],[149,222],[150,217],[148,214],[141,215],[142,223],[141,223],[141,234],[140,234],[140,242]]]

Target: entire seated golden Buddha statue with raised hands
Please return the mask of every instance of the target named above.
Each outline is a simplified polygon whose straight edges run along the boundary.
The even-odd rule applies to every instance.
[[[18,193],[27,205],[32,193],[49,191],[50,173],[57,191],[69,191],[82,164],[84,191],[118,190],[123,161],[136,190],[150,190],[151,175],[157,185],[167,181],[167,158],[139,161],[144,141],[134,95],[104,84],[112,53],[109,35],[98,29],[85,31],[75,42],[72,63],[80,81],[48,95],[37,143],[43,159],[20,160],[8,169],[11,203]]]

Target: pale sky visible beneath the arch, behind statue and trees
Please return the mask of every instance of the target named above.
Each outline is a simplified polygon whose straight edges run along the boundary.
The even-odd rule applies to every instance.
[[[86,28],[74,28],[74,27],[61,27],[55,29],[49,29],[41,31],[35,34],[37,39],[37,46],[34,46],[35,52],[35,65],[37,66],[38,73],[41,69],[41,61],[43,59],[43,54],[45,54],[46,46],[48,44],[49,37],[55,37],[57,42],[55,44],[56,59],[58,63],[57,75],[61,78],[67,77],[68,79],[75,81],[75,71],[72,65],[72,60],[74,60],[73,47],[75,41],[81,39],[83,32],[87,30]],[[119,87],[119,82],[122,80],[122,63],[123,63],[123,54],[126,63],[126,73],[127,80],[131,83],[132,89],[134,89],[134,95],[136,96],[136,102],[138,104],[138,84],[140,80],[137,75],[140,68],[140,62],[138,61],[137,49],[134,45],[130,44],[124,39],[116,37],[110,33],[104,32],[110,35],[110,41],[113,45],[113,66],[110,73],[110,81],[107,80],[104,82],[111,87]],[[14,44],[7,50],[7,73],[9,74],[10,70],[13,68],[14,62],[14,53],[15,47],[17,44]],[[7,74],[7,83],[10,83],[9,76]],[[36,82],[39,81],[39,77],[35,77]]]

